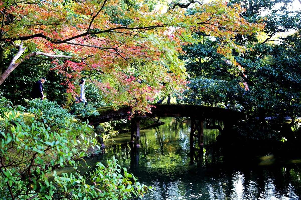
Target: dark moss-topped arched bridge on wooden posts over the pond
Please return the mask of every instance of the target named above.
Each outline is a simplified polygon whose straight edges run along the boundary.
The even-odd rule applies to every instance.
[[[151,104],[151,113],[143,115],[134,115],[131,118],[131,142],[134,142],[139,148],[140,140],[140,120],[145,117],[189,117],[191,118],[190,143],[193,145],[194,137],[199,138],[200,145],[203,145],[203,121],[206,119],[215,119],[223,121],[225,124],[234,124],[238,119],[245,119],[246,115],[230,109],[223,109],[213,106],[198,106],[188,104]],[[104,107],[98,109],[99,116],[88,118],[89,124],[97,126],[99,123],[128,119],[132,114],[130,106],[120,106],[118,110],[113,107]],[[198,134],[195,134],[195,132]]]

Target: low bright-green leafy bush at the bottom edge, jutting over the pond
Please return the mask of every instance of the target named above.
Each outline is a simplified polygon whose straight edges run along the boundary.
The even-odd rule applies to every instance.
[[[72,196],[76,200],[126,200],[133,197],[141,198],[148,190],[152,191],[152,187],[140,184],[138,178],[129,174],[126,168],[122,168],[124,172],[122,175],[121,167],[117,163],[115,157],[113,160],[107,160],[107,166],[97,163],[96,168],[87,176],[80,175],[78,172],[75,172],[75,175],[63,173],[62,177],[54,174],[52,184],[58,185],[57,191],[62,194],[61,198]],[[133,181],[130,181],[130,178]],[[46,190],[46,186],[42,189]]]

